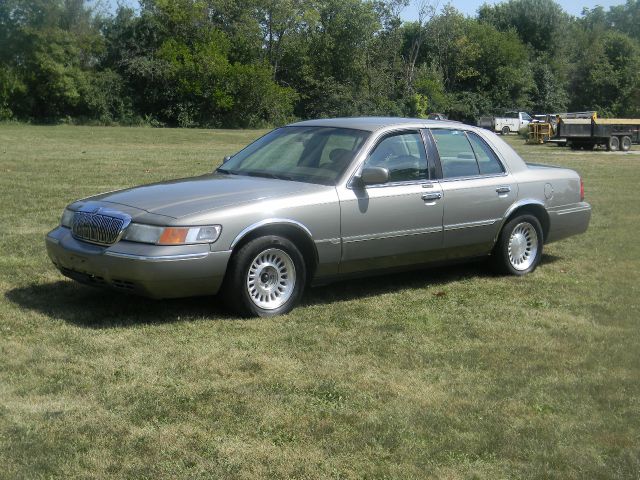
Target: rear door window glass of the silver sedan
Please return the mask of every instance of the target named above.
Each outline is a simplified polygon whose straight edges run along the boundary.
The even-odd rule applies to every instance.
[[[431,130],[438,149],[443,178],[503,173],[502,164],[478,135],[462,130]]]

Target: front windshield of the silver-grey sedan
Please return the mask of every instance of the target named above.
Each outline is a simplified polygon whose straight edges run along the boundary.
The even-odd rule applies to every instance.
[[[279,128],[235,154],[218,172],[335,185],[369,133],[349,128]]]

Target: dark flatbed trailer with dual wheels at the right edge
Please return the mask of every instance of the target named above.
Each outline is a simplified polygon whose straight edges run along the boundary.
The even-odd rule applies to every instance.
[[[626,152],[640,143],[639,118],[558,118],[554,141],[564,140],[574,150],[592,150],[602,145],[610,151]]]

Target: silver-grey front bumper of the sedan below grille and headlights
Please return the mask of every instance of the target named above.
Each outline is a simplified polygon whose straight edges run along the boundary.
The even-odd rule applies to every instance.
[[[213,295],[218,292],[231,251],[209,244],[156,246],[120,241],[102,247],[73,238],[58,227],[46,236],[47,254],[73,280],[152,298]]]

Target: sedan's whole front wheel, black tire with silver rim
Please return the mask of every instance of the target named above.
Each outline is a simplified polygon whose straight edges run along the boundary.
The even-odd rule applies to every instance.
[[[276,258],[278,260],[273,260],[273,265],[267,265],[268,262],[264,261],[256,263],[260,256],[263,257],[263,260],[264,258],[267,260]],[[289,262],[292,263],[293,270],[291,270]],[[287,264],[286,267],[289,268],[288,277],[286,275],[281,276],[283,271],[281,268],[287,271],[285,263]],[[255,267],[256,265],[258,269],[262,266],[263,270],[256,271],[254,268],[250,272],[252,266]],[[267,265],[267,267],[264,267],[264,265]],[[267,271],[267,269],[270,270]],[[266,283],[261,282],[263,277],[260,276],[260,272],[263,272],[262,275],[267,276],[265,277]],[[252,279],[250,275],[253,276]],[[278,305],[278,302],[275,301],[272,302],[272,306],[267,308],[260,304],[261,299],[258,298],[260,293],[257,292],[258,287],[255,285],[270,285],[270,287],[265,287],[260,291],[271,291],[275,297],[281,293],[279,291],[282,288],[280,282],[291,280],[291,277],[293,277],[293,286],[290,293],[283,294],[282,298],[280,298],[284,303]],[[227,308],[243,317],[273,317],[289,313],[300,302],[306,278],[306,264],[295,244],[284,237],[268,235],[249,241],[233,254],[229,261],[227,275],[220,293]],[[254,282],[254,294],[249,290],[251,281]],[[284,300],[285,296],[286,300]],[[278,299],[276,298],[276,300]],[[265,302],[271,302],[266,295],[262,303]]]

